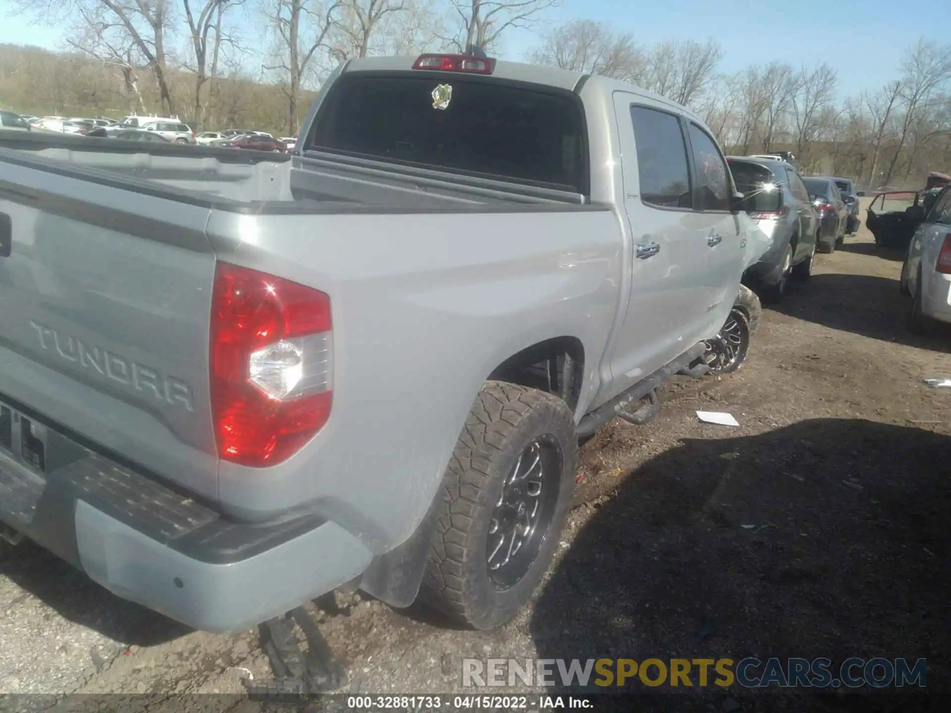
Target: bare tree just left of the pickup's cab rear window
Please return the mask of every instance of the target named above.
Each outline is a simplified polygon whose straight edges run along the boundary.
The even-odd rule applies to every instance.
[[[334,28],[335,14],[340,10],[340,5],[341,0],[333,3],[273,0],[268,10],[268,19],[277,29],[281,47],[278,49],[278,64],[265,68],[279,69],[286,78],[284,93],[287,98],[289,135],[298,132],[298,100],[302,79],[311,68],[317,50],[329,49],[328,35]]]

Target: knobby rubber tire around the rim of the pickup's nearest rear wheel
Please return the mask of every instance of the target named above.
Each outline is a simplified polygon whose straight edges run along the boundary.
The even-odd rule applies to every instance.
[[[495,503],[519,453],[541,435],[561,451],[559,490],[541,549],[513,586],[490,578],[487,541]],[[429,560],[419,600],[459,624],[492,629],[511,620],[552,562],[572,503],[577,436],[560,398],[528,387],[487,381],[466,418],[443,475]]]

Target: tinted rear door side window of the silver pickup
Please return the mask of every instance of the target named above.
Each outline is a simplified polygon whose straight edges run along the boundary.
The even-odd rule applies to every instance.
[[[641,201],[665,208],[690,208],[687,145],[680,120],[646,106],[631,106]]]

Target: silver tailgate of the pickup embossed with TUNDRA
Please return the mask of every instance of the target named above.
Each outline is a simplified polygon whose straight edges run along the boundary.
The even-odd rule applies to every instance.
[[[0,402],[217,498],[208,212],[0,159]]]

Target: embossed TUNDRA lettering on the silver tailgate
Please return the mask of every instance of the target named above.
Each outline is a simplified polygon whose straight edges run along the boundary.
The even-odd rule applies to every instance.
[[[100,349],[63,334],[52,327],[38,324],[32,319],[29,325],[35,330],[40,348],[58,357],[79,364],[90,374],[101,376],[136,391],[152,395],[159,401],[184,406],[194,412],[191,389],[184,381],[174,376],[162,376],[152,367],[140,364],[125,357]]]

